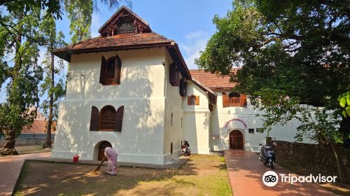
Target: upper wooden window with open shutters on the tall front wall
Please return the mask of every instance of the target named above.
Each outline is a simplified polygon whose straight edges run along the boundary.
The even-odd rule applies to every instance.
[[[122,63],[118,55],[108,60],[102,56],[99,83],[102,85],[120,85]]]

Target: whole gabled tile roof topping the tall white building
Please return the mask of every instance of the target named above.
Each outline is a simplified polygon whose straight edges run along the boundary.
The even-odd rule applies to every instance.
[[[134,22],[130,22],[132,20]],[[127,30],[118,31],[118,27],[126,27]],[[179,45],[173,40],[151,31],[151,27],[145,20],[125,6],[118,9],[102,25],[99,33],[101,34],[99,37],[80,41],[65,48],[58,48],[53,50],[52,54],[65,59],[67,62],[71,62],[71,55],[73,54],[165,46],[174,62],[179,64],[181,74],[188,79],[191,78],[190,71],[181,55]]]

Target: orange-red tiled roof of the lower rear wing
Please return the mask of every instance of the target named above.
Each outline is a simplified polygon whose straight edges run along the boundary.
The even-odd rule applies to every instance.
[[[237,71],[237,68],[232,71]],[[217,76],[214,73],[204,72],[198,69],[190,69],[192,78],[198,80],[205,87],[210,89],[231,89],[235,87],[235,83],[230,83],[230,76]]]

